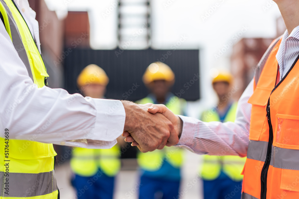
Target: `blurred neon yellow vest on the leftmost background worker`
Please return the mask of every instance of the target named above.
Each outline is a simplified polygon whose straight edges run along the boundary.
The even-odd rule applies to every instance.
[[[74,147],[71,169],[77,175],[91,177],[100,168],[107,176],[113,177],[120,170],[120,147],[111,149],[85,149]]]

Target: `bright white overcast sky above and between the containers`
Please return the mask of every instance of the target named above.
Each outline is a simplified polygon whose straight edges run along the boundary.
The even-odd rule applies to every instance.
[[[90,43],[94,49],[117,47],[116,2],[46,0],[48,7],[61,18],[67,10],[89,12]],[[169,49],[184,38],[177,49],[200,49],[201,92],[203,101],[210,104],[215,103],[209,100],[215,94],[210,84],[203,83],[210,82],[215,71],[229,69],[232,47],[220,58],[216,59],[215,54],[241,38],[275,38],[276,19],[280,17],[277,5],[271,0],[152,0],[151,9],[152,48]]]

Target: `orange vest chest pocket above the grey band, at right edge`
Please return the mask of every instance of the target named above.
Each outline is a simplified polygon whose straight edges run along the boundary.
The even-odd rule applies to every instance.
[[[276,114],[273,146],[299,150],[299,116]]]

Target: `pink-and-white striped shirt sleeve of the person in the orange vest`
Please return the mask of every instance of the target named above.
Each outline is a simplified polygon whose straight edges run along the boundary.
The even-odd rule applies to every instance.
[[[246,156],[249,144],[253,80],[249,83],[237,106],[235,122],[203,122],[195,118],[179,116],[183,131],[177,146],[198,154]]]

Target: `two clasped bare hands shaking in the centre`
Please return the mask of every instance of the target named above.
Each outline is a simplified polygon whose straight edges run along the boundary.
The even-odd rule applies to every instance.
[[[183,122],[163,104],[122,101],[126,112],[123,137],[141,152],[178,144]]]

